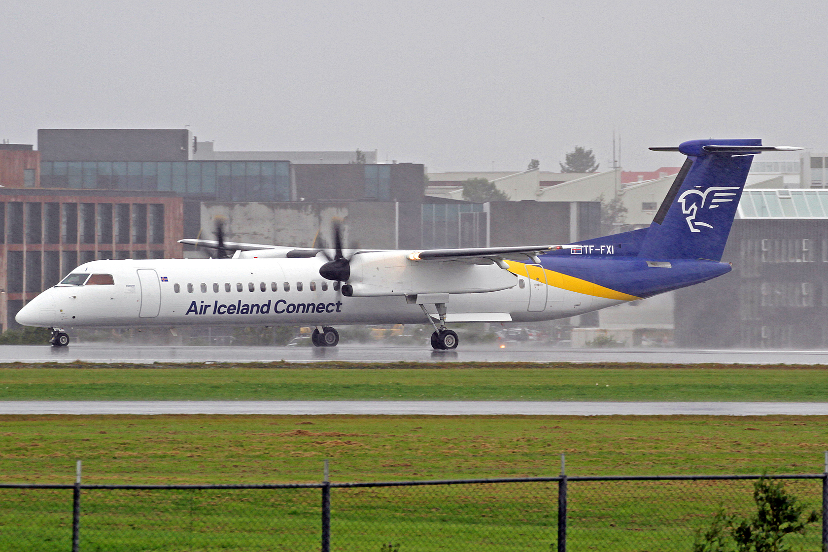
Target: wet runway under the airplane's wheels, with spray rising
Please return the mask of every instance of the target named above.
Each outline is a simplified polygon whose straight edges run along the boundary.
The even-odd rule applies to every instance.
[[[343,345],[314,347],[194,347],[73,344],[0,346],[0,362],[667,362],[692,364],[828,364],[828,351],[687,350],[667,348],[553,348],[460,345],[455,351],[427,347]]]

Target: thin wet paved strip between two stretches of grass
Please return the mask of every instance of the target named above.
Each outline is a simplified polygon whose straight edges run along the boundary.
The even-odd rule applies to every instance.
[[[828,415],[819,402],[0,401],[0,415]]]

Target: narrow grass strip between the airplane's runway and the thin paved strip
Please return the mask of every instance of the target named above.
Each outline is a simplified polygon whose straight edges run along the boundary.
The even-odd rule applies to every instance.
[[[828,367],[3,364],[0,401],[826,401]]]

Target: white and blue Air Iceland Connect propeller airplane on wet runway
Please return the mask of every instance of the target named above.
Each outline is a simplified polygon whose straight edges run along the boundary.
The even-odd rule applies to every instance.
[[[721,262],[753,156],[796,151],[761,140],[694,140],[653,151],[686,161],[648,228],[580,242],[516,247],[365,250],[182,239],[216,258],[103,260],[78,266],[17,313],[51,329],[302,325],[316,347],[335,324],[431,324],[431,346],[457,347],[446,324],[569,318],[694,286]],[[542,221],[536,221],[542,223]],[[229,252],[233,252],[232,257]],[[228,258],[229,257],[229,258]]]

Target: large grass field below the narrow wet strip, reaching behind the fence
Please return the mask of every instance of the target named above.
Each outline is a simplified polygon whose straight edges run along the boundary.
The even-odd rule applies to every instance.
[[[828,416],[2,416],[0,481],[313,482],[555,475],[815,473]],[[816,506],[820,482],[792,482]],[[749,482],[570,486],[570,550],[690,550]],[[67,550],[70,492],[0,490],[0,550]],[[335,489],[333,550],[539,550],[556,485]],[[82,550],[317,550],[319,491],[88,491]],[[797,537],[819,550],[818,532]]]

